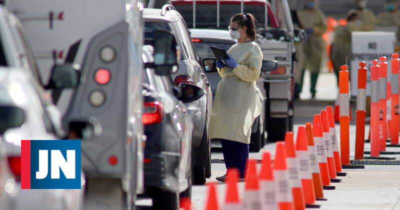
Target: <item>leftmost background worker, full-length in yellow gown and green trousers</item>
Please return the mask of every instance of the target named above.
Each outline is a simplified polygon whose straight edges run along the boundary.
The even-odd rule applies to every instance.
[[[322,38],[322,34],[326,30],[325,16],[322,12],[315,8],[314,0],[306,0],[304,4],[305,8],[298,11],[297,16],[299,22],[303,26],[307,33],[307,38],[302,43],[303,53],[302,61],[305,64],[305,69],[308,69],[311,74],[311,98],[315,98],[316,83],[318,79],[319,69],[321,67],[322,56],[325,54],[325,41]],[[300,79],[297,82],[300,87],[303,86],[304,71],[301,69]],[[299,69],[300,70],[300,69]],[[301,91],[300,91],[301,92]]]

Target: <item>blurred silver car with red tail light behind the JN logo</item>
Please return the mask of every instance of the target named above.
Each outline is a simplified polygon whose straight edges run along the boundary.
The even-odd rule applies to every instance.
[[[47,95],[24,69],[1,67],[0,92],[0,112],[3,113],[0,135],[15,180],[7,187],[13,194],[13,205],[8,209],[80,209],[84,182],[82,189],[21,189],[21,169],[18,170],[18,166],[21,168],[21,139],[58,139],[56,127],[61,125],[58,109],[46,102]]]

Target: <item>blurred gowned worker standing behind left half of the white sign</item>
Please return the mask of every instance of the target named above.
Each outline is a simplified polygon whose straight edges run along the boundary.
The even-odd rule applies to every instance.
[[[348,14],[356,12],[361,20],[360,30],[370,31],[373,30],[376,23],[375,14],[366,8],[368,0],[355,0],[355,9],[351,9]]]

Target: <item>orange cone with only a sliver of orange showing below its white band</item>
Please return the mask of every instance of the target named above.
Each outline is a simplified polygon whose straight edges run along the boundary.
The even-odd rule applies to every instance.
[[[290,190],[285,144],[276,142],[274,177],[277,183],[276,202],[279,210],[293,210],[293,195]]]

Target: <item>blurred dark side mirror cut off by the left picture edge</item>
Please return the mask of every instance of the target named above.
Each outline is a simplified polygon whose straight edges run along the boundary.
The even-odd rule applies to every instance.
[[[25,122],[25,111],[14,105],[0,105],[0,134],[7,129],[21,127]]]

